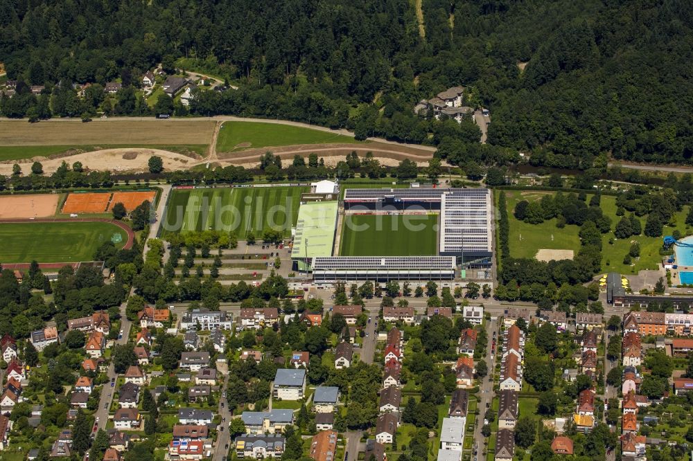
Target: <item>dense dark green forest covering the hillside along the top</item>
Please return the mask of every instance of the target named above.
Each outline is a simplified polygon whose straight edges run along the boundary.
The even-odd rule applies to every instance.
[[[690,1],[423,0],[423,24],[413,4],[0,0],[8,78],[46,85],[38,97],[20,87],[0,110],[23,116],[36,106],[40,115],[62,116],[71,91],[64,83],[118,80],[125,86],[119,113],[150,114],[129,85],[159,63],[174,71],[189,62],[195,69],[188,70],[239,87],[200,92],[193,115],[286,118],[358,136],[446,142],[458,164],[514,161],[508,150],[569,168],[590,168],[605,153],[690,163]],[[459,85],[466,105],[491,110],[491,146],[469,147],[479,138],[471,122],[414,115],[416,102]]]

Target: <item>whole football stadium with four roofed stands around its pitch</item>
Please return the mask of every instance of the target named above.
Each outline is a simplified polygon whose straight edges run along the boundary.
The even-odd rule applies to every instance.
[[[335,183],[321,184],[338,197]],[[294,269],[315,282],[455,280],[470,269],[485,278],[492,219],[484,188],[348,188],[341,203],[301,200]]]

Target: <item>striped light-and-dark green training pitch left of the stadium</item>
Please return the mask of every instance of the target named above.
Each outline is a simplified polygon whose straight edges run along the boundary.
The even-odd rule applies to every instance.
[[[279,228],[289,236],[304,192],[308,188],[176,189],[166,206],[162,235],[213,229],[244,239],[250,230],[259,238],[264,230]]]

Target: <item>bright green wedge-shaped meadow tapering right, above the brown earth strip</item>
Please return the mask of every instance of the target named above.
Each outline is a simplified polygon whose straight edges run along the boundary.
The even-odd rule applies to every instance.
[[[351,136],[279,123],[225,122],[219,130],[216,149],[236,152],[268,146],[357,142]]]

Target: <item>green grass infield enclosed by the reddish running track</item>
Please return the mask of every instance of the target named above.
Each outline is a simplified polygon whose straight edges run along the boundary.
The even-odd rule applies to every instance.
[[[107,222],[33,222],[0,224],[0,262],[79,262],[94,259],[100,244],[121,234],[122,248],[128,235]]]

